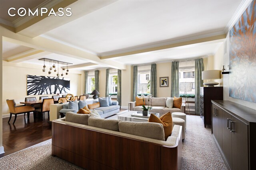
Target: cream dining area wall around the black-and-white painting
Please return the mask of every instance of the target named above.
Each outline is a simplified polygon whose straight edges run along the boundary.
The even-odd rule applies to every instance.
[[[17,104],[25,100],[27,96],[27,75],[40,75],[48,76],[47,72],[42,72],[41,68],[38,68],[38,65],[26,64],[26,63],[8,63],[3,61],[3,90],[2,90],[2,112],[3,114],[8,114],[9,109],[6,104],[6,99],[14,99]],[[55,76],[55,74],[51,74]],[[68,76],[70,78],[70,93],[75,96],[80,96],[83,93],[82,90],[82,72],[81,71],[72,71]],[[41,95],[42,96],[42,95]],[[52,95],[43,95],[49,96]],[[39,100],[39,96],[35,96]]]

